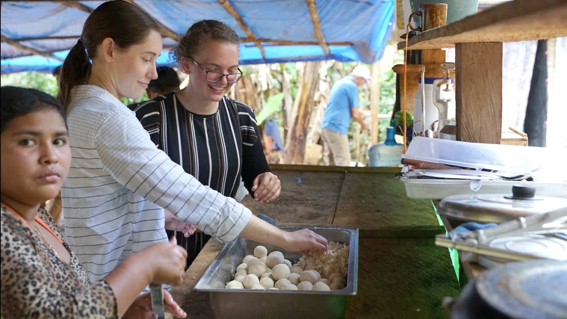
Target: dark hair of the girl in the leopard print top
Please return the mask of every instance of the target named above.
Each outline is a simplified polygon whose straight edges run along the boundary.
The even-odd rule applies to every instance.
[[[17,86],[0,88],[0,133],[3,133],[16,117],[32,112],[54,110],[61,114],[67,126],[65,111],[53,96],[36,89]]]

